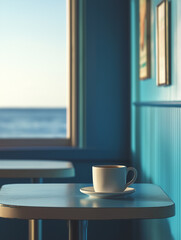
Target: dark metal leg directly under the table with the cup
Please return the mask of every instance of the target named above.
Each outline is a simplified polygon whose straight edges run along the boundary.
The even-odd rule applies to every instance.
[[[69,240],[87,240],[87,220],[69,220]]]

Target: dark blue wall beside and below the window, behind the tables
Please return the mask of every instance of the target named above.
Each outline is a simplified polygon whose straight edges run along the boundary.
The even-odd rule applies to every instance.
[[[71,160],[76,168],[76,178],[62,182],[90,183],[94,164],[129,165],[129,11],[129,1],[85,1],[84,147],[1,149],[0,159]],[[26,179],[1,179],[0,184],[22,181],[28,182]],[[60,180],[53,179],[52,182]],[[114,239],[119,239],[120,232],[126,231],[126,223],[91,221],[89,239],[110,240],[113,233]],[[44,221],[44,240],[67,239],[66,226],[64,221]],[[1,220],[0,234],[1,239],[25,240],[27,222]]]

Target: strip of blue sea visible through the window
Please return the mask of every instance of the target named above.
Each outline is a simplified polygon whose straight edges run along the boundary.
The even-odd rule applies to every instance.
[[[0,108],[0,138],[65,138],[66,108]]]

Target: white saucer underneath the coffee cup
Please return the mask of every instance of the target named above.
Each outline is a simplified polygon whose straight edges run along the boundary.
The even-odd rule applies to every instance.
[[[135,188],[127,187],[124,192],[113,192],[113,193],[99,193],[95,192],[93,186],[83,187],[80,189],[81,193],[87,194],[92,198],[112,198],[112,197],[123,197],[128,194],[134,193]]]

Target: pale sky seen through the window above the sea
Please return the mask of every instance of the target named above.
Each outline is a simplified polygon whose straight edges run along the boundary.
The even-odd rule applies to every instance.
[[[0,108],[65,107],[66,0],[0,0]]]

